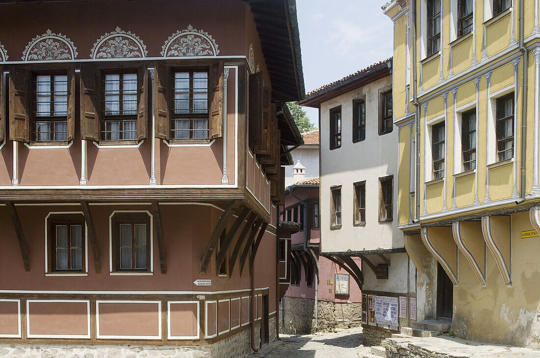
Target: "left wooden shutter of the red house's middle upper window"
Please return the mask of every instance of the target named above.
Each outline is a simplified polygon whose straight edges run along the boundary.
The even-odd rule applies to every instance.
[[[80,134],[82,139],[99,141],[99,70],[80,65]]]

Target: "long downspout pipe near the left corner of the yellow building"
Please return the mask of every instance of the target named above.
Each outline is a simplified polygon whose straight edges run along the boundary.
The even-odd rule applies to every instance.
[[[420,104],[417,97],[417,74],[416,74],[416,0],[410,2],[410,33],[411,33],[411,67],[413,67],[413,104],[415,105],[414,122],[416,127],[415,135],[415,150],[416,150],[416,165],[415,165],[415,213],[416,219],[414,222],[420,221]],[[411,143],[412,144],[412,143]]]

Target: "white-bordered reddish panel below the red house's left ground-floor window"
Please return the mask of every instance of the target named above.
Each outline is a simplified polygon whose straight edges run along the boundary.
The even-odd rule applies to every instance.
[[[29,338],[90,338],[90,301],[26,301]]]

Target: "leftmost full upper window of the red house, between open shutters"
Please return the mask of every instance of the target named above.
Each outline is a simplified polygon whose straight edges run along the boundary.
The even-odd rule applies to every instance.
[[[68,140],[68,76],[33,76],[33,121],[31,140]]]

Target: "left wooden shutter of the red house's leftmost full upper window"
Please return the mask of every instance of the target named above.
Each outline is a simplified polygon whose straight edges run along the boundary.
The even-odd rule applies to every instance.
[[[9,71],[9,136],[30,141],[30,72],[12,67]]]

